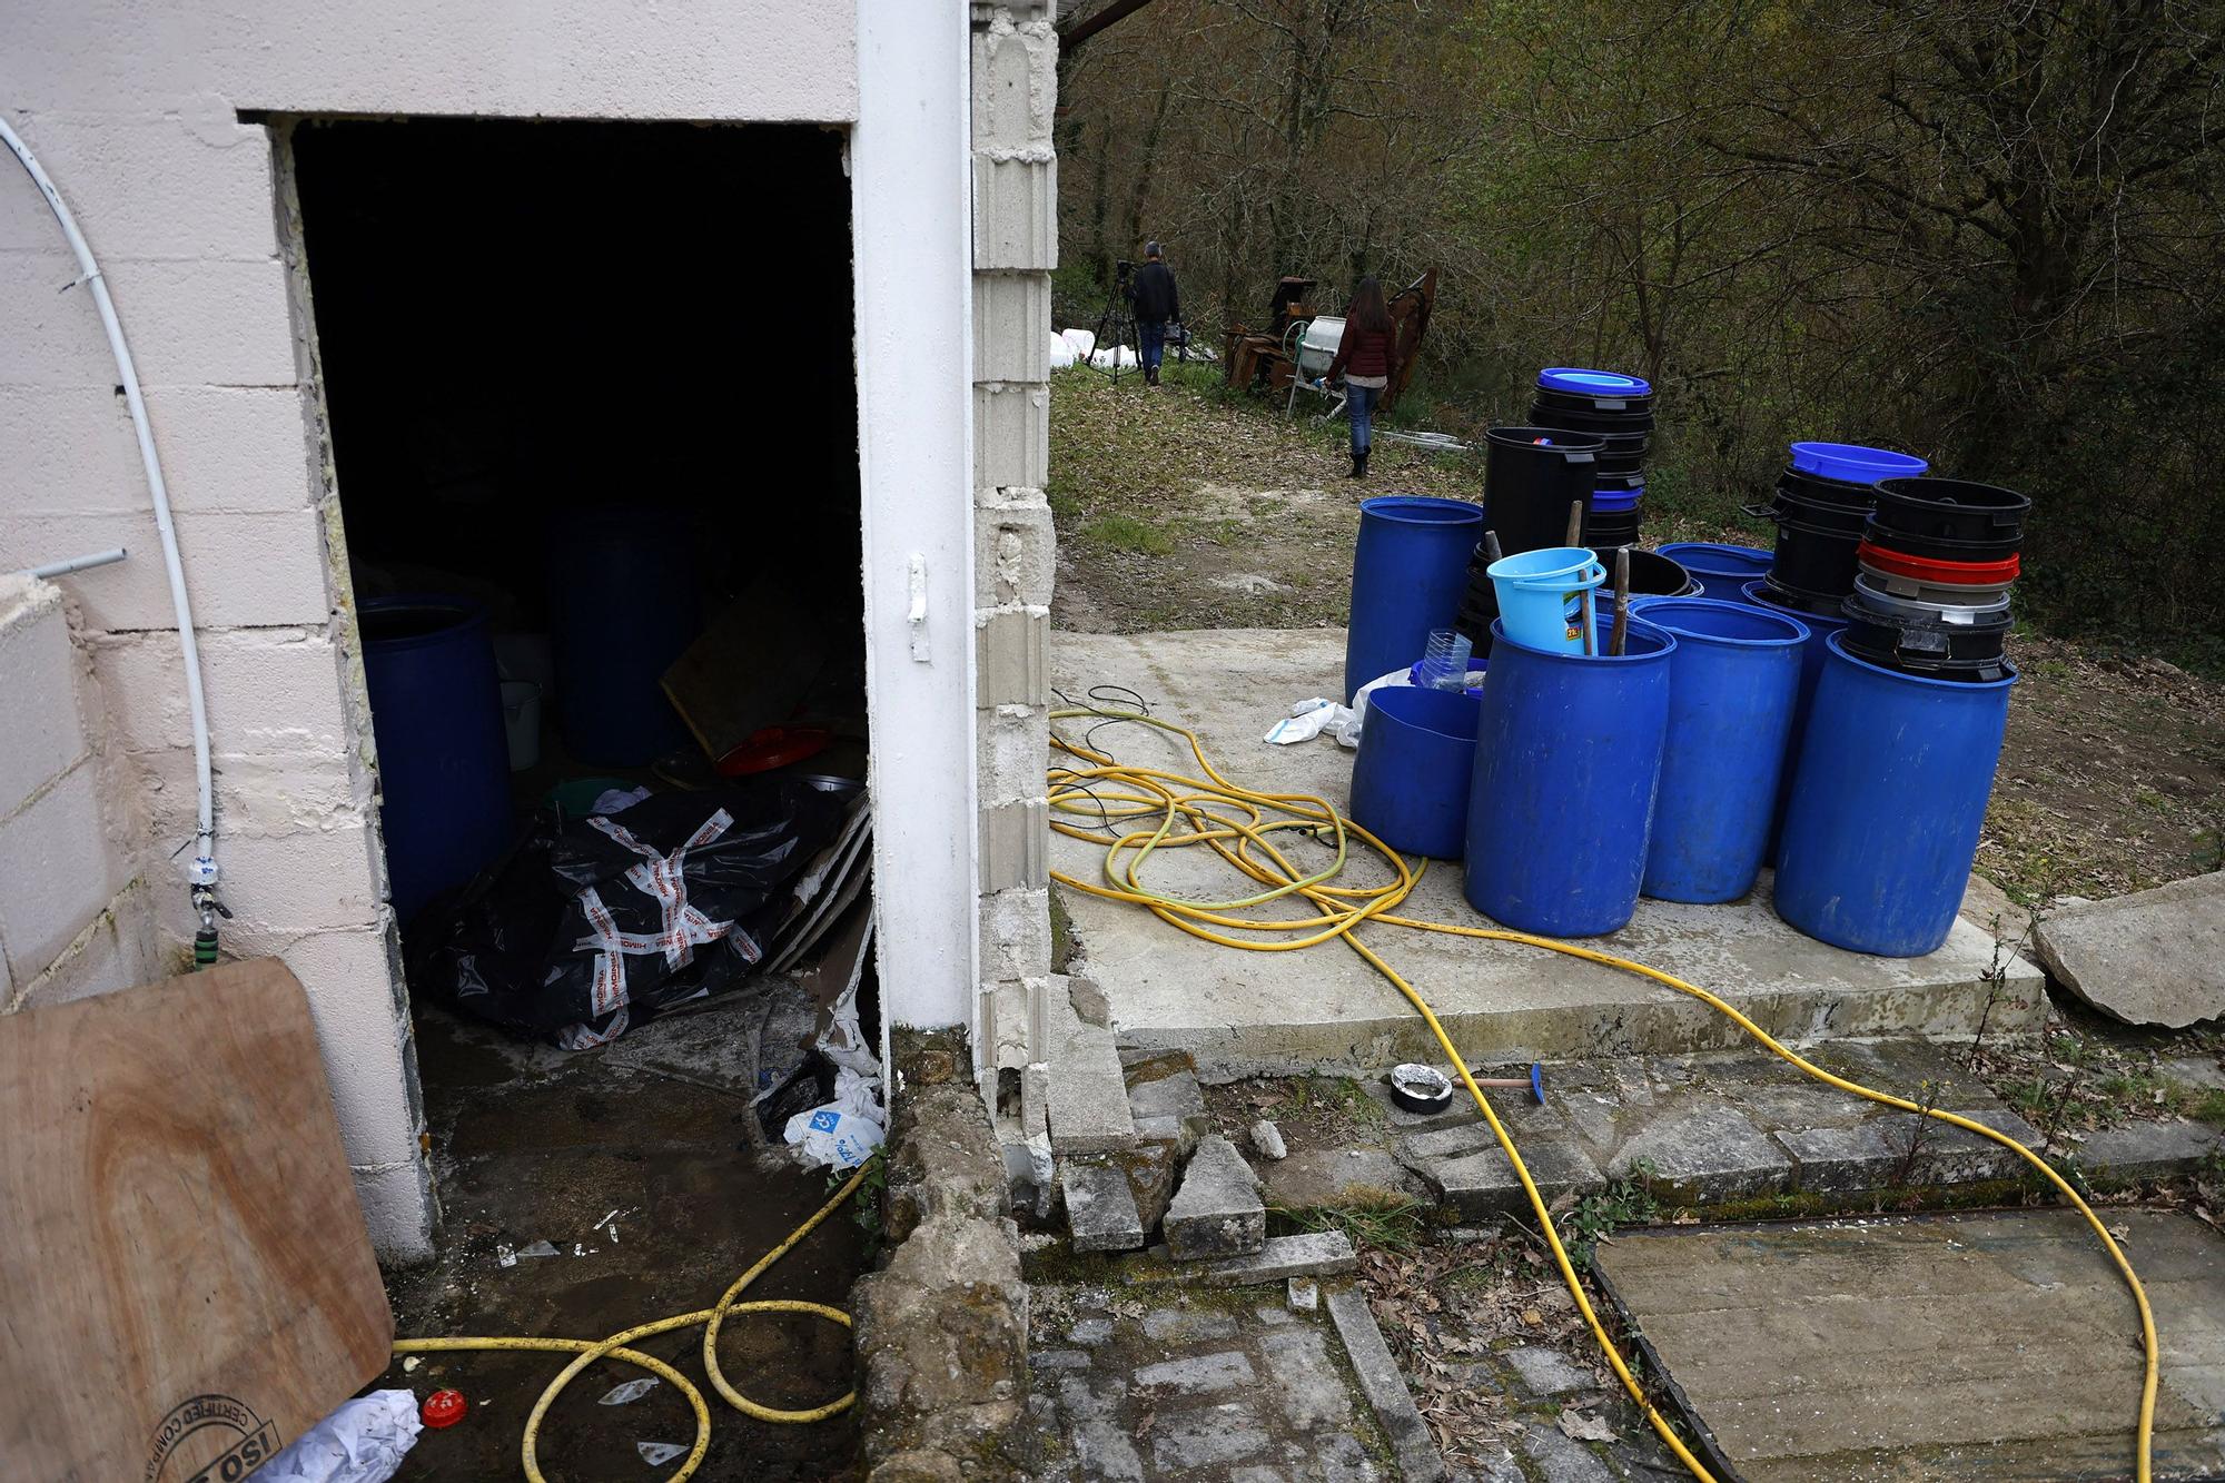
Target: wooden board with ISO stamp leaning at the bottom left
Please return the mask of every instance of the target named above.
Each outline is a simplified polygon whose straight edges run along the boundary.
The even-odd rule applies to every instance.
[[[0,1018],[7,1479],[243,1479],[392,1343],[283,962]]]

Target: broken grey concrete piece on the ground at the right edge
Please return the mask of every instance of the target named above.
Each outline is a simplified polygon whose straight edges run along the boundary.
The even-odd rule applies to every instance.
[[[2034,931],[2047,973],[2127,1024],[2225,1015],[2225,871],[2109,902],[2058,906]]]

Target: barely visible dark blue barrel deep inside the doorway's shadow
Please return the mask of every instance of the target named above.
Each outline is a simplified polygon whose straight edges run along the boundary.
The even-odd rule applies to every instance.
[[[574,510],[550,541],[550,641],[565,748],[647,766],[690,746],[663,675],[701,632],[685,523],[659,510]]]

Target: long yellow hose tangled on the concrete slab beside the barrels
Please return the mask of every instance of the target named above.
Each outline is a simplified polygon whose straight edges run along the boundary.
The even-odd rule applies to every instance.
[[[1936,1118],[1960,1127],[1965,1131],[1989,1138],[2005,1149],[2016,1151],[2027,1165],[2038,1169],[2049,1185],[2054,1185],[2065,1200],[2069,1200],[2087,1225],[2094,1227],[2094,1236],[2100,1240],[2103,1249],[2109,1251],[2109,1260],[2125,1276],[2125,1285],[2132,1289],[2132,1298],[2140,1312],[2140,1345],[2145,1354],[2145,1376],[2140,1381],[2140,1421],[2138,1421],[2138,1479],[2149,1483],[2149,1454],[2154,1445],[2156,1425],[2156,1318],[2147,1305],[2147,1292],[2140,1287],[2140,1278],[2134,1274],[2132,1263],[2125,1260],[2125,1251],[2118,1247],[2116,1238],[2100,1222],[2100,1216],[2078,1196],[2071,1185],[2056,1173],[2047,1160],[2016,1142],[2014,1138],[1998,1133],[1982,1122],[1971,1118],[1958,1118],[1956,1113],[1945,1113],[1907,1098],[1896,1098],[1885,1091],[1873,1091],[1847,1078],[1831,1076],[1822,1067],[1800,1058],[1776,1038],[1771,1038],[1762,1027],[1740,1013],[1736,1006],[1715,998],[1698,984],[1687,984],[1673,973],[1662,973],[1660,969],[1649,969],[1642,962],[1631,962],[1629,957],[1615,957],[1613,953],[1600,953],[1595,949],[1578,946],[1573,942],[1560,942],[1553,937],[1533,937],[1529,933],[1511,933],[1484,926],[1460,926],[1451,922],[1422,922],[1417,917],[1393,915],[1393,909],[1404,902],[1415,884],[1420,884],[1420,873],[1411,868],[1397,851],[1384,846],[1375,835],[1359,828],[1351,819],[1342,817],[1328,799],[1306,795],[1306,793],[1257,793],[1253,788],[1242,788],[1215,770],[1206,759],[1204,746],[1197,735],[1161,721],[1141,710],[1104,710],[1092,706],[1072,706],[1052,710],[1050,719],[1075,719],[1092,717],[1099,721],[1133,721],[1141,726],[1155,726],[1164,733],[1173,733],[1188,742],[1190,755],[1197,759],[1204,777],[1188,777],[1181,773],[1168,773],[1161,768],[1139,768],[1121,766],[1108,753],[1092,750],[1086,744],[1068,742],[1052,733],[1052,746],[1086,766],[1052,766],[1050,768],[1050,808],[1055,811],[1052,828],[1061,835],[1075,839],[1088,839],[1106,846],[1104,857],[1104,882],[1086,882],[1061,871],[1052,871],[1052,880],[1072,886],[1075,891],[1086,891],[1115,902],[1130,902],[1148,909],[1161,922],[1177,926],[1193,937],[1204,937],[1206,942],[1217,942],[1222,946],[1244,949],[1253,953],[1288,953],[1295,949],[1315,946],[1328,942],[1331,937],[1342,940],[1348,949],[1359,953],[1359,957],[1382,973],[1391,984],[1406,998],[1408,1004],[1420,1011],[1422,1020],[1428,1024],[1431,1033],[1437,1038],[1440,1049],[1446,1060],[1453,1062],[1453,1071],[1460,1076],[1468,1096],[1475,1098],[1475,1107],[1482,1109],[1484,1120],[1491,1124],[1493,1136],[1506,1151],[1506,1160],[1513,1165],[1515,1178],[1522,1180],[1522,1191],[1529,1196],[1531,1209],[1537,1214],[1537,1229],[1544,1234],[1546,1245],[1553,1249],[1553,1263],[1560,1267],[1562,1283],[1569,1287],[1569,1296],[1575,1298],[1578,1312],[1584,1314],[1584,1323],[1591,1325],[1591,1336],[1598,1340],[1600,1352],[1613,1367],[1615,1378],[1631,1394],[1653,1425],[1653,1432],[1662,1443],[1691,1470],[1695,1479],[1713,1483],[1713,1474],[1691,1454],[1684,1441],[1675,1434],[1669,1421],[1646,1401],[1644,1389],[1631,1374],[1629,1363],[1624,1363],[1622,1352],[1615,1340],[1609,1338],[1606,1327],[1600,1323],[1598,1312],[1591,1307],[1591,1298],[1584,1294],[1582,1280],[1575,1276],[1575,1265],[1569,1260],[1569,1251],[1560,1243],[1560,1231],[1553,1229],[1553,1214],[1546,1209],[1544,1198],[1537,1194],[1537,1185],[1531,1180],[1529,1167],[1522,1162],[1522,1153],[1515,1151],[1513,1138],[1509,1138],[1506,1127],[1500,1122],[1491,1102],[1484,1100],[1482,1089],[1468,1073],[1466,1058],[1453,1044],[1453,1038],[1444,1033],[1444,1024],[1437,1022],[1435,1011],[1428,1002],[1408,984],[1400,973],[1386,964],[1375,951],[1364,944],[1355,929],[1362,924],[1380,922],[1384,926],[1406,926],[1413,931],[1428,933],[1453,933],[1457,937],[1484,937],[1491,942],[1520,942],[1524,946],[1544,949],[1549,953],[1564,953],[1569,957],[1582,957],[1584,962],[1604,964],[1609,969],[1622,969],[1624,973],[1638,973],[1655,984],[1675,989],[1678,993],[1689,993],[1702,1004],[1724,1013],[1742,1031],[1753,1035],[1771,1053],[1784,1058],[1807,1076],[1820,1082],[1838,1087],[1840,1091],[1853,1093],[1869,1102],[1880,1102],[1885,1107],[1898,1107],[1900,1111],[1911,1111],[1925,1118]],[[1095,735],[1095,733],[1092,733]],[[1066,822],[1061,815],[1090,815],[1095,822],[1077,826]],[[1148,826],[1128,828],[1124,822],[1153,819]],[[1328,871],[1302,873],[1297,871],[1282,851],[1275,848],[1270,835],[1290,833],[1315,837],[1335,844],[1335,864]],[[1371,846],[1391,866],[1393,877],[1382,886],[1335,886],[1331,884],[1342,875],[1348,837],[1357,837],[1362,844]],[[1244,877],[1266,886],[1264,891],[1233,902],[1195,902],[1177,895],[1166,895],[1153,891],[1144,884],[1141,873],[1153,853],[1161,848],[1190,848],[1204,846],[1226,860]],[[1246,906],[1302,897],[1311,902],[1317,915],[1311,917],[1242,917],[1228,915],[1233,911],[1244,911]],[[1268,937],[1233,937],[1226,931],[1233,929],[1246,933],[1275,933]],[[623,1336],[621,1336],[623,1338]]]

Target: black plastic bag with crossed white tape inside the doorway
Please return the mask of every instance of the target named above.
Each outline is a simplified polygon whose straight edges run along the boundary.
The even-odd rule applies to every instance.
[[[841,828],[799,782],[663,793],[527,837],[412,926],[412,986],[567,1049],[750,973],[788,886]]]

